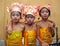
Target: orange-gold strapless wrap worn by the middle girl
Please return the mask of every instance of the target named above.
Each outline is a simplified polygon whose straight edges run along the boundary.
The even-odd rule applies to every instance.
[[[24,46],[36,46],[36,31],[28,30],[24,32]]]

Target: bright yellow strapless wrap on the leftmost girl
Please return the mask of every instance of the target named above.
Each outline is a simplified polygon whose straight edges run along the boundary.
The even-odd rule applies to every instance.
[[[22,46],[22,31],[12,31],[11,34],[8,34],[6,43],[7,46]]]

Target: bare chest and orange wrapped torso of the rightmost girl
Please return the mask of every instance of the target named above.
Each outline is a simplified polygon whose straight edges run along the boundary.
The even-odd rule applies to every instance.
[[[40,22],[40,38],[42,40],[44,40],[47,43],[51,43],[52,42],[52,34],[51,34],[51,30],[49,29],[51,23],[47,22],[47,23],[43,23]]]

